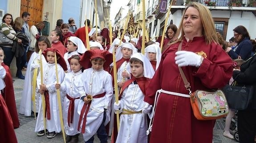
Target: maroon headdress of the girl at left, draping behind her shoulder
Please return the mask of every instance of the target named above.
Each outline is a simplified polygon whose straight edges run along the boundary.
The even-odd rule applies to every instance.
[[[64,71],[68,70],[67,64],[66,64],[66,62],[65,62],[65,59],[62,57],[61,52],[60,52],[59,50],[55,49],[55,48],[47,48],[47,49],[45,49],[45,50],[43,51],[42,54],[45,56],[45,60],[46,60],[47,62],[48,62],[48,60],[47,60],[47,55],[46,55],[46,54],[47,54],[48,51],[52,51],[53,53],[56,52],[56,56],[57,56],[57,57],[60,57],[59,59],[57,59],[57,63],[61,65],[61,67],[62,67],[62,69],[63,69]]]

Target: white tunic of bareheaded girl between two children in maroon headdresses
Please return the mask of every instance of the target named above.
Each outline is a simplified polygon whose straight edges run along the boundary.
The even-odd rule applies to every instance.
[[[77,98],[80,97],[78,93],[77,85],[82,80],[82,71],[78,71],[77,73],[74,73],[73,71],[70,73],[65,74],[64,81],[61,83],[61,91],[68,94],[71,98]],[[79,120],[79,114],[77,112],[77,106],[79,103],[79,99],[75,100],[75,106],[73,111],[73,123],[68,124],[68,112],[69,112],[69,103],[70,100],[65,96],[64,103],[63,103],[63,121],[64,121],[64,128],[65,133],[67,135],[76,135],[79,133],[77,131],[77,125]],[[69,127],[70,125],[70,127]]]

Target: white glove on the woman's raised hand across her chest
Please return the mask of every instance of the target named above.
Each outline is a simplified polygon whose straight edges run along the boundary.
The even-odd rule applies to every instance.
[[[175,57],[175,64],[179,67],[182,66],[195,66],[199,67],[202,63],[202,56],[185,50],[177,51]]]

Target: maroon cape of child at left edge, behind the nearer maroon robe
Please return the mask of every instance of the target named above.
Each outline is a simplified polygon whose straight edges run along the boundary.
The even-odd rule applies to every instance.
[[[4,77],[5,88],[3,89],[2,96],[7,105],[9,113],[12,117],[13,127],[19,128],[20,121],[18,118],[18,113],[17,113],[17,108],[16,108],[16,101],[15,101],[14,89],[13,89],[13,84],[12,84],[12,75],[9,70],[9,67],[4,65],[3,62],[2,62],[2,66],[6,70],[6,76]]]

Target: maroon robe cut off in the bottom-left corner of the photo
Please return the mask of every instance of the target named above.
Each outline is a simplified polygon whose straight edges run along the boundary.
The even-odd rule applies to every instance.
[[[12,118],[0,94],[0,138],[2,143],[18,143],[13,129]]]

